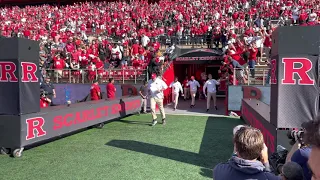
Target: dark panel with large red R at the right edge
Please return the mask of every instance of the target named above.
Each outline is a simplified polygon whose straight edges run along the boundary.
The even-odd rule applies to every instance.
[[[272,60],[271,123],[299,128],[319,111],[318,56],[277,55]]]

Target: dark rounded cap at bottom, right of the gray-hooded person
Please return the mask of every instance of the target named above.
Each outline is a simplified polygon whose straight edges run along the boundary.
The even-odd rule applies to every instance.
[[[287,162],[282,167],[282,180],[304,180],[302,167],[295,162]]]

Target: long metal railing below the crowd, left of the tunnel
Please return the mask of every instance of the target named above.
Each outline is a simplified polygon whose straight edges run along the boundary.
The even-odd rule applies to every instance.
[[[49,76],[54,83],[92,83],[98,80],[100,83],[108,82],[109,78],[114,78],[119,83],[137,84],[147,77],[147,69],[45,69],[42,75]]]

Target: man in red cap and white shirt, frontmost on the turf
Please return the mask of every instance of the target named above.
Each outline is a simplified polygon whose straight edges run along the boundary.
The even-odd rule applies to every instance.
[[[167,84],[157,74],[153,73],[151,79],[148,82],[148,92],[150,96],[150,107],[152,115],[152,126],[158,123],[156,114],[156,104],[159,107],[160,114],[162,116],[162,124],[166,124],[166,114],[163,108],[163,91],[168,88]]]

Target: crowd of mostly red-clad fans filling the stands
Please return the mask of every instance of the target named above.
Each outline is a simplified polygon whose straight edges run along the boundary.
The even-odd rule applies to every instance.
[[[0,34],[40,41],[41,66],[55,69],[59,77],[62,69],[72,69],[73,77],[85,70],[92,80],[109,76],[105,69],[159,66],[166,59],[160,42],[168,37],[171,43],[223,48],[227,56],[220,71],[223,76],[233,74],[225,68],[232,64],[248,65],[254,77],[255,64],[271,47],[272,20],[277,25],[317,25],[319,4],[319,0],[160,0],[152,4],[141,0],[5,7],[0,9]]]

